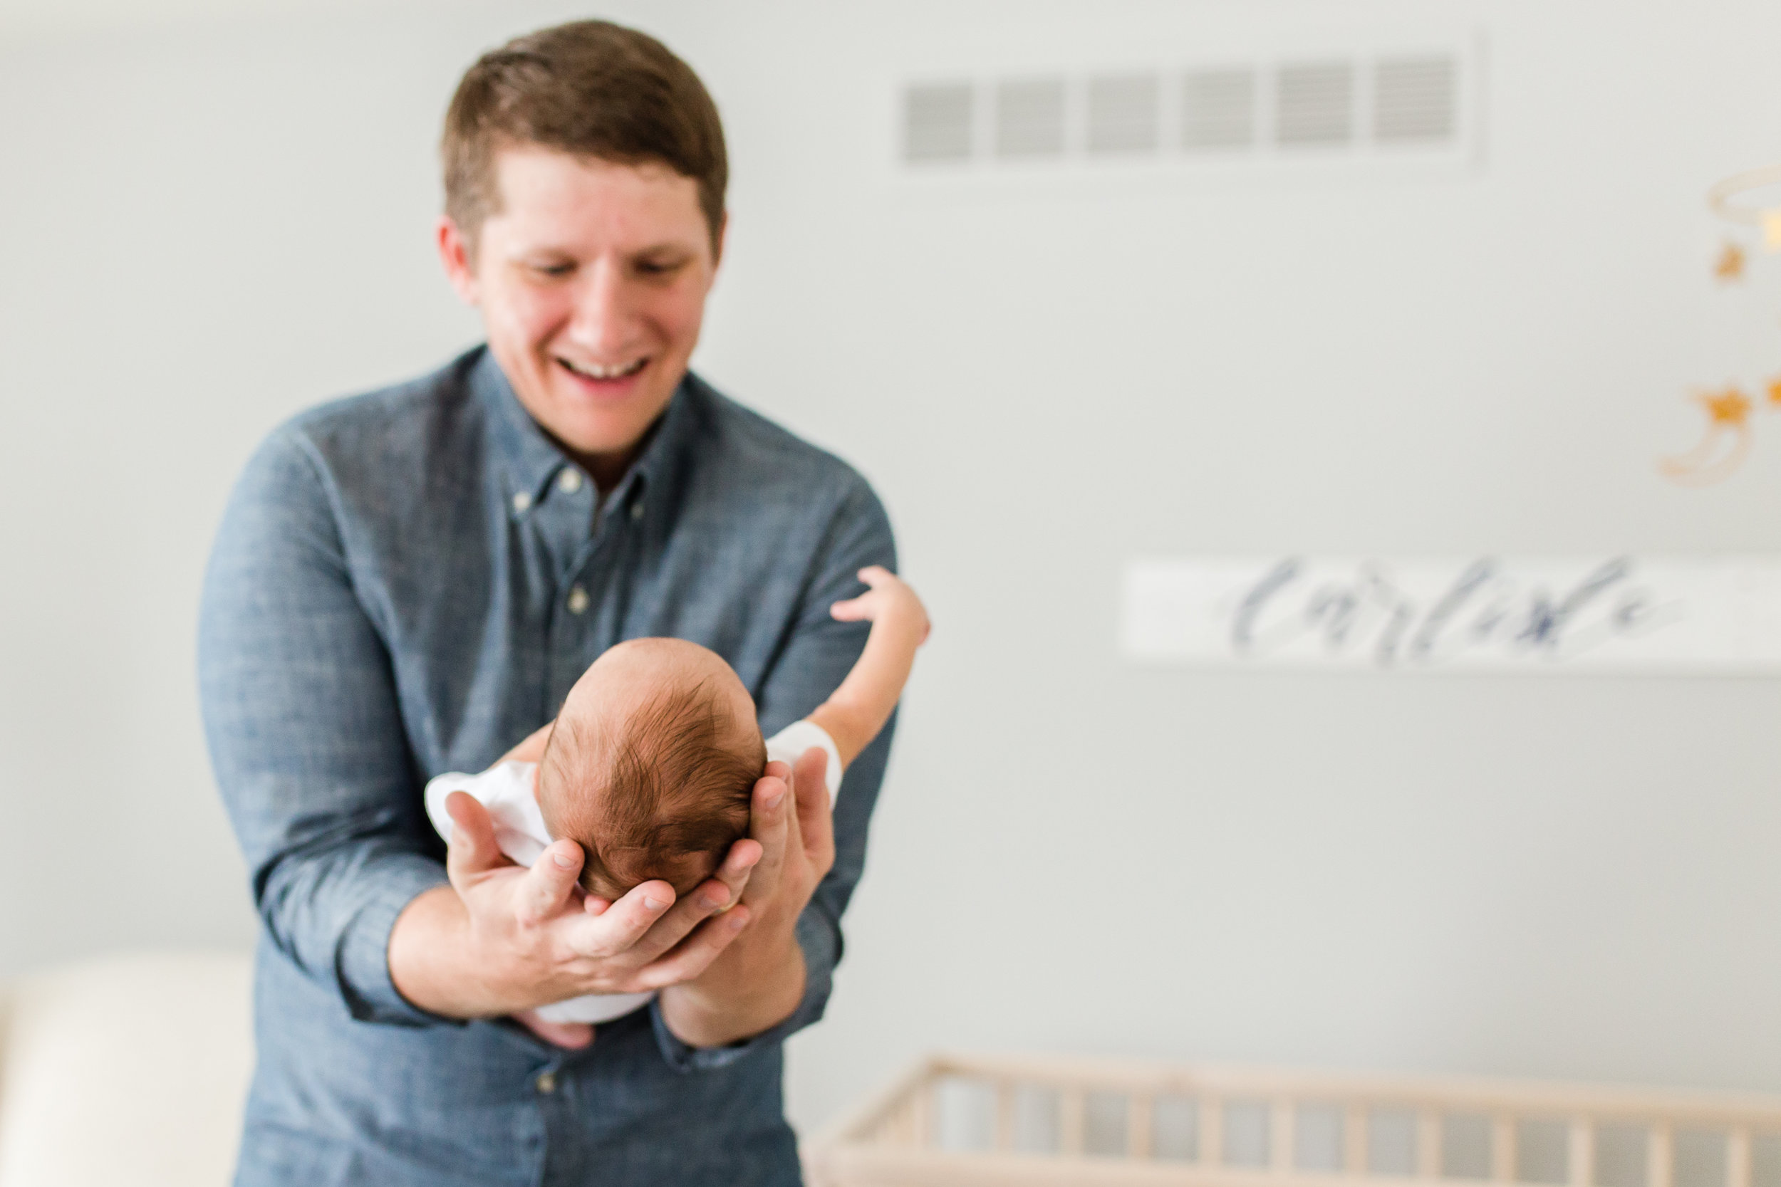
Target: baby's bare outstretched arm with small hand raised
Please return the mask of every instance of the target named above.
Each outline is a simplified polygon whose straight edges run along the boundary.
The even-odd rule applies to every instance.
[[[835,740],[842,767],[885,728],[915,664],[915,648],[928,641],[928,610],[896,573],[873,564],[860,569],[860,580],[869,589],[828,612],[842,623],[866,619],[873,634],[848,678],[809,717]]]

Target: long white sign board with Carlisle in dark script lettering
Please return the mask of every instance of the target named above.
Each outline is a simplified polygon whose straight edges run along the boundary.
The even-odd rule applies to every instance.
[[[1136,660],[1781,673],[1781,557],[1184,557],[1126,568]]]

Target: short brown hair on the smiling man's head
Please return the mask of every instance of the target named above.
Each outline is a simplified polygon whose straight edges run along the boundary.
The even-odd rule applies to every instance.
[[[622,166],[659,162],[698,183],[718,253],[730,180],[723,123],[705,84],[661,41],[611,21],[515,37],[465,71],[445,110],[445,214],[476,244],[500,210],[495,153],[538,144]]]

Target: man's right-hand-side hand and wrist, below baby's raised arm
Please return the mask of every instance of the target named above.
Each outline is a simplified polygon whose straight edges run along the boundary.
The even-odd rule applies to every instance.
[[[687,1046],[760,1034],[803,1000],[798,916],[835,863],[826,767],[828,756],[809,749],[796,772],[771,762],[755,783],[750,836],[760,844],[760,861],[728,913],[750,911],[753,924],[703,973],[661,995],[663,1021]]]

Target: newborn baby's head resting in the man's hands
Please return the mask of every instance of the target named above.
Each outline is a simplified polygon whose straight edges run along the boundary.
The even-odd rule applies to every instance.
[[[686,895],[748,835],[766,763],[728,664],[696,642],[632,639],[570,689],[538,763],[538,808],[550,836],[588,856],[588,893],[616,900],[659,877]]]

